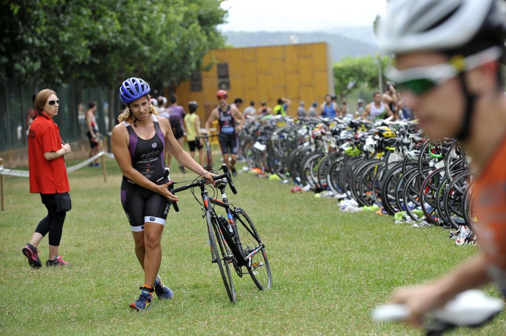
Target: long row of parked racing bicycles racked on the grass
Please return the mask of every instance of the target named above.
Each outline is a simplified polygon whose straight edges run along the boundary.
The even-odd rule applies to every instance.
[[[249,168],[316,193],[329,190],[390,215],[403,211],[413,221],[474,231],[470,158],[453,139],[427,140],[416,123],[248,118],[240,150]],[[476,241],[466,236],[466,243]]]

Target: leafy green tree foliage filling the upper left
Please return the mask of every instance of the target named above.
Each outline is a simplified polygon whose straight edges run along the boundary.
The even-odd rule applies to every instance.
[[[216,0],[21,0],[0,3],[0,79],[173,85],[224,41]]]

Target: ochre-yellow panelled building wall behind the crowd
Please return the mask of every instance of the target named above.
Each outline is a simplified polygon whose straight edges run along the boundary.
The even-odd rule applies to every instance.
[[[255,107],[265,100],[274,108],[278,98],[292,101],[288,114],[297,115],[300,101],[306,109],[316,101],[323,102],[326,93],[334,93],[330,46],[327,43],[290,44],[236,49],[212,50],[203,64],[213,60],[213,67],[202,72],[202,91],[190,92],[190,82],[178,85],[179,104],[187,110],[189,101],[197,101],[202,125],[209,113],[218,106],[218,63],[228,63],[230,89],[228,102],[237,97],[244,101],[243,111],[251,100]]]

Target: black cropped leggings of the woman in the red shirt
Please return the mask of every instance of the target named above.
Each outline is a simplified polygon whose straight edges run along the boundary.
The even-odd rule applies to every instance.
[[[49,232],[49,245],[60,246],[63,222],[67,213],[65,211],[56,212],[55,194],[40,194],[40,198],[48,209],[48,215],[38,223],[35,232],[40,233],[43,237]]]

